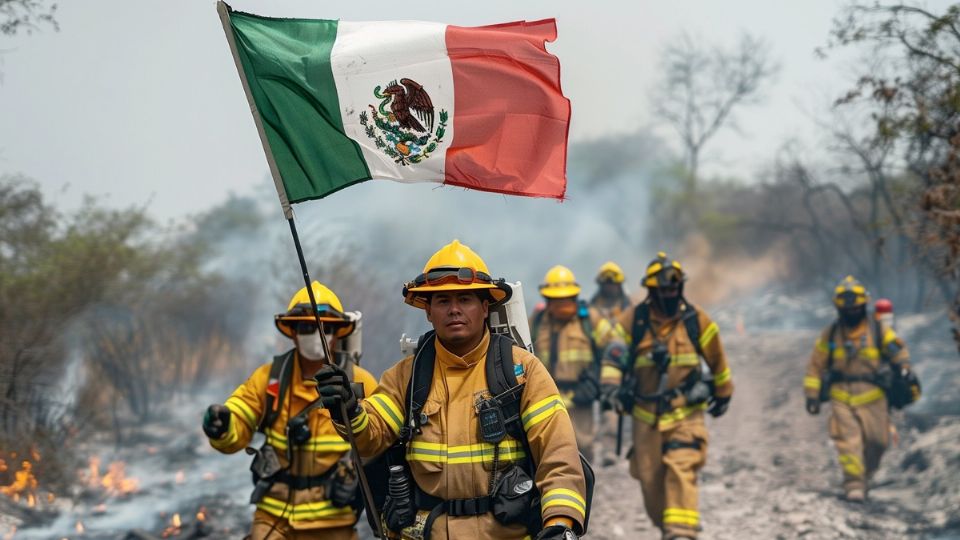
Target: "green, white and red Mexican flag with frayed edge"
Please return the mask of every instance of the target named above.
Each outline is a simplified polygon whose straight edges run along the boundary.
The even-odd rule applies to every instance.
[[[570,101],[545,47],[553,19],[467,28],[218,10],[285,208],[370,179],[563,198]]]

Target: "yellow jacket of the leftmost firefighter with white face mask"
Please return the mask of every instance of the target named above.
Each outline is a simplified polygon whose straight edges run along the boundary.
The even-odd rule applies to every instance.
[[[294,353],[293,381],[287,388],[283,403],[278,403],[280,414],[272,426],[267,426],[267,443],[277,450],[281,464],[287,460],[287,420],[300,413],[317,399],[315,387],[303,384],[300,362]],[[257,425],[264,414],[267,379],[270,363],[257,368],[227,399],[230,409],[230,430],[220,439],[210,439],[210,446],[225,454],[232,454],[250,444]],[[353,367],[354,382],[362,383],[366,394],[377,388],[376,379],[365,369]],[[350,445],[337,433],[326,409],[314,408],[308,413],[311,438],[306,445],[292,450],[293,463],[289,473],[294,476],[318,476],[326,473],[350,450]],[[321,529],[351,526],[357,521],[350,507],[338,508],[327,500],[323,487],[291,490],[282,482],[275,483],[257,508],[278,518],[286,519],[294,529]]]

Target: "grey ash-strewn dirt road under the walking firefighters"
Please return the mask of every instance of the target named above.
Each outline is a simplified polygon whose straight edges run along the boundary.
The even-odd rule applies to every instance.
[[[921,425],[926,432],[903,427],[918,419],[896,417],[901,442],[884,457],[870,501],[840,500],[829,408],[807,415],[800,390],[814,338],[810,331],[727,338],[736,394],[728,414],[709,421],[701,537],[960,538],[960,497],[949,485],[960,481],[955,417]],[[599,469],[598,484],[591,538],[659,538],[625,463]]]

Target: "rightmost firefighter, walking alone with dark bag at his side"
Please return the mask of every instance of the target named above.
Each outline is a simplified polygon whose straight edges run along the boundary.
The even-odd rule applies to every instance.
[[[837,320],[820,333],[803,380],[808,413],[818,414],[820,404],[830,401],[830,438],[852,502],[866,499],[889,445],[888,408],[920,397],[903,340],[882,318],[868,319],[868,302],[867,290],[852,276],[837,285]]]

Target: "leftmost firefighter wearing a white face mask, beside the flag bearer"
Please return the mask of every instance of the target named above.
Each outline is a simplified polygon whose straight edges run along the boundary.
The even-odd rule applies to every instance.
[[[326,286],[314,281],[313,294],[333,351],[355,323]],[[247,447],[258,431],[266,435],[251,467],[256,511],[249,539],[356,539],[360,505],[350,445],[334,429],[329,411],[317,407],[312,384],[314,374],[331,362],[306,287],[274,319],[294,347],[257,368],[225,404],[210,405],[203,431],[210,445],[225,454]],[[350,380],[373,393],[376,380],[370,373],[349,360],[344,367]]]

